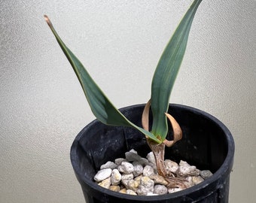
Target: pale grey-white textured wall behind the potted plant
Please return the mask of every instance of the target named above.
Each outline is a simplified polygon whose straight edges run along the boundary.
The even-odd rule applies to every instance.
[[[69,149],[91,120],[78,80],[44,22],[117,108],[144,103],[163,47],[191,1],[0,0],[0,202],[84,202]],[[230,202],[255,202],[254,0],[203,1],[171,101],[233,133]]]

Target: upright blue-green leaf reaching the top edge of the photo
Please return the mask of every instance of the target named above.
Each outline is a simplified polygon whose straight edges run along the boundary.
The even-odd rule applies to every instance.
[[[168,110],[169,96],[184,56],[190,26],[201,2],[202,0],[195,0],[190,6],[163,51],[154,72],[151,84],[151,109],[154,120],[151,132],[157,137],[160,136],[162,141],[165,140],[168,130],[164,113]]]

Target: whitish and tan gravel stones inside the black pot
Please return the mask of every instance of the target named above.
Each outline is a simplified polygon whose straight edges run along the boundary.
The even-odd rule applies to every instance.
[[[164,160],[166,171],[182,177],[187,187],[194,186],[212,176],[209,170],[200,171],[185,161],[179,163]],[[125,153],[124,158],[108,161],[100,167],[94,177],[99,186],[130,195],[163,195],[178,192],[181,188],[169,188],[164,177],[157,174],[154,154],[148,153],[147,159],[138,155],[136,150]]]

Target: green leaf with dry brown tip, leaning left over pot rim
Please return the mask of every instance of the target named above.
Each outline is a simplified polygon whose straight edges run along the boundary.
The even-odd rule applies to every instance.
[[[99,86],[97,86],[92,77],[90,77],[90,74],[88,74],[87,70],[78,60],[78,58],[71,52],[71,50],[69,50],[68,47],[66,47],[61,38],[59,38],[59,35],[53,28],[52,23],[50,23],[49,18],[47,16],[44,16],[44,18],[47,21],[47,24],[50,26],[50,29],[53,32],[53,35],[56,37],[56,40],[58,41],[59,46],[62,48],[62,51],[69,59],[69,62],[72,65],[72,68],[74,69],[82,88],[84,89],[84,94],[95,117],[107,125],[133,127],[138,129],[144,135],[148,136],[148,138],[151,138],[157,143],[160,143],[161,141],[158,140],[150,132],[145,131],[145,129],[142,129],[127,120],[126,117],[124,117],[123,114],[121,114],[120,111],[118,111],[117,108],[111,104],[102,90],[99,89]]]

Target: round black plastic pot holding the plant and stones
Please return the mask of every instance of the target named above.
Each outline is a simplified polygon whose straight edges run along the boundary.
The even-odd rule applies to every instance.
[[[144,106],[134,105],[120,111],[141,126]],[[71,148],[72,165],[87,203],[228,202],[235,148],[230,131],[215,117],[195,108],[169,105],[169,113],[180,124],[183,138],[173,147],[166,147],[166,159],[177,162],[183,159],[200,170],[209,169],[214,173],[212,177],[196,186],[166,195],[126,195],[98,186],[93,177],[100,165],[124,157],[124,153],[131,149],[141,156],[146,156],[150,149],[145,136],[136,130],[105,126],[94,120],[78,134]]]

